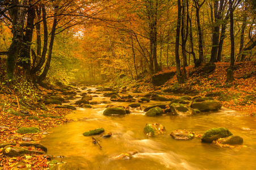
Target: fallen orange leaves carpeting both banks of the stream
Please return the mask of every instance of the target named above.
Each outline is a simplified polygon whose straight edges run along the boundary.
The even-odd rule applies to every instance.
[[[188,74],[188,79],[186,83],[179,85],[179,94],[190,95],[190,96],[204,96],[212,92],[217,92],[218,96],[215,99],[222,101],[223,106],[226,108],[234,109],[240,111],[248,116],[255,116],[256,114],[256,62],[242,62],[236,63],[237,67],[234,71],[234,82],[226,83],[226,69],[229,67],[229,63],[216,63],[216,69],[211,74]],[[186,67],[187,73],[193,71],[193,66]],[[199,68],[200,69],[200,68]],[[170,71],[175,71],[175,67],[170,67],[168,69],[163,69],[161,73],[168,73]],[[154,87],[150,83],[150,76],[147,75],[143,80],[131,83],[131,80],[123,79],[119,82],[119,87],[131,86],[131,89],[141,90],[141,91],[159,91],[162,92],[173,86],[177,82],[176,76],[168,80],[162,86]],[[112,83],[114,84],[114,83]],[[110,85],[110,84],[108,84]],[[116,85],[117,86],[117,85]],[[118,86],[117,86],[118,87]],[[24,142],[24,138],[32,139],[32,142],[39,143],[42,138],[45,137],[45,131],[64,124],[66,122],[72,121],[65,118],[66,114],[71,111],[66,108],[53,108],[53,105],[47,105],[47,110],[42,110],[35,107],[36,101],[31,105],[30,109],[27,109],[27,116],[20,114],[19,105],[17,103],[18,97],[16,97],[15,92],[8,92],[10,90],[1,87],[0,94],[0,144],[2,142],[19,143]],[[49,90],[38,87],[41,95],[47,94]],[[6,93],[5,93],[6,91]],[[19,96],[20,97],[20,96]],[[178,97],[175,95],[167,94],[167,97]],[[30,99],[28,99],[30,100]],[[18,112],[17,114],[12,114],[6,112],[8,109],[14,109]],[[29,118],[30,117],[30,118]],[[35,127],[41,130],[37,134],[19,134],[16,130],[20,127]],[[48,131],[51,133],[51,131]],[[2,149],[0,147],[0,169],[19,169],[15,168],[16,163],[21,160],[25,163],[26,167],[31,169],[47,169],[47,164],[49,161],[43,157],[43,155],[24,155],[18,157],[12,157],[3,155]],[[34,148],[33,148],[34,149]]]

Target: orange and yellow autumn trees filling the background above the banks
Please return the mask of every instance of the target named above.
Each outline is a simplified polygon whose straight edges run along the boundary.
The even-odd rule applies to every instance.
[[[0,2],[0,54],[6,70],[32,82],[137,79],[176,66],[255,61],[254,0]]]

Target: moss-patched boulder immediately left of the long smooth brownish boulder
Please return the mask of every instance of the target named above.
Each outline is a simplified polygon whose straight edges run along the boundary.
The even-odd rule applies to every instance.
[[[170,105],[170,111],[173,115],[194,116],[196,111],[186,104],[173,103]]]

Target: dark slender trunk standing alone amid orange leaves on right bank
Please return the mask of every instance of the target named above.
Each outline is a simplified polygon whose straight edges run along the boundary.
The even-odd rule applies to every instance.
[[[230,41],[231,41],[231,54],[230,54],[230,65],[226,70],[227,77],[226,82],[231,83],[234,80],[234,22],[233,22],[233,2],[229,0],[229,11],[230,11]]]

